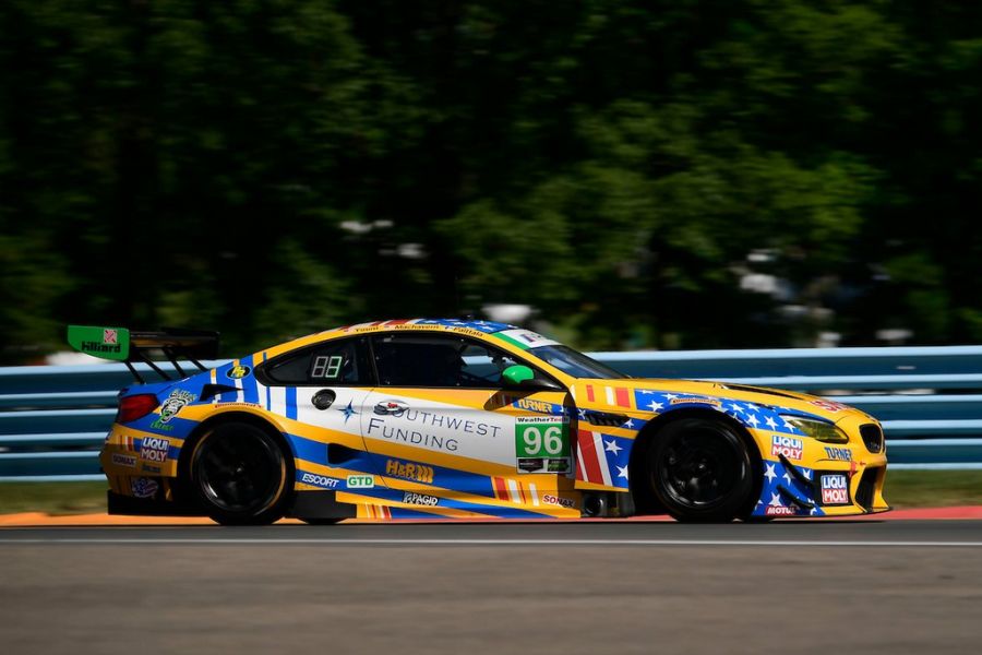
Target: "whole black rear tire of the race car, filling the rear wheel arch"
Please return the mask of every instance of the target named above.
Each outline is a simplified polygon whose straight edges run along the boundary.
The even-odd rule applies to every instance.
[[[266,525],[283,517],[290,497],[292,461],[261,427],[243,421],[214,426],[193,444],[192,492],[221,525]]]

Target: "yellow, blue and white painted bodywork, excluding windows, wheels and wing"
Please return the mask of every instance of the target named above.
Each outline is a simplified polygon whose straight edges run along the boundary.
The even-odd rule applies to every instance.
[[[255,367],[298,348],[404,331],[452,333],[492,345],[559,389],[337,385],[331,388],[336,400],[330,408],[315,408],[321,385],[264,386],[253,374]],[[226,391],[205,402],[187,401],[202,394],[205,383]],[[805,394],[715,382],[575,378],[520,341],[466,324],[375,322],[335,329],[237,359],[178,386],[184,395],[177,400],[187,402],[177,403],[173,416],[165,413],[165,403],[139,425],[113,426],[100,463],[115,492],[134,496],[146,491],[141,479],[178,476],[184,439],[206,431],[206,421],[237,416],[261,420],[284,436],[294,451],[298,493],[333,491],[359,516],[579,516],[586,495],[630,493],[635,444],[648,448],[660,421],[678,410],[718,417],[750,438],[764,476],[759,515],[888,509],[882,496],[886,453],[871,452],[860,433],[862,426],[878,424],[857,409]],[[833,421],[847,440],[826,443],[795,432],[780,418],[790,414]],[[553,451],[543,450],[547,445]],[[528,454],[532,448],[536,456]],[[839,488],[843,479],[846,490]],[[840,499],[848,491],[849,502],[817,502],[817,485],[826,483],[823,498]],[[169,485],[163,493],[170,498]],[[777,496],[780,504],[768,508]]]

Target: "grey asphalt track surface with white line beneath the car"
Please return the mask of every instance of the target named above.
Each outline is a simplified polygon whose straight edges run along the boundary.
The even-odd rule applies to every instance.
[[[978,653],[982,522],[0,529],[5,653]]]

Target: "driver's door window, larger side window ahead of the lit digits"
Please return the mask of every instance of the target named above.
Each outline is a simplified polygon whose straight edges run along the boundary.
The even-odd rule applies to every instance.
[[[372,337],[379,383],[385,386],[498,389],[517,361],[507,353],[455,335]]]

